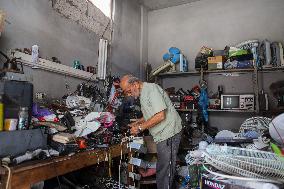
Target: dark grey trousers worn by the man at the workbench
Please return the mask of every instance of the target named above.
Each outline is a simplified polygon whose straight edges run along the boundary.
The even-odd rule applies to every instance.
[[[157,188],[173,189],[176,174],[176,159],[181,139],[181,132],[157,144]]]

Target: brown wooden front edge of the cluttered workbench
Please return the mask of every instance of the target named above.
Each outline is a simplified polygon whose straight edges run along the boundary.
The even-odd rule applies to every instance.
[[[128,153],[127,145],[117,144],[104,149],[78,152],[73,155],[52,157],[46,160],[25,162],[11,166],[10,189],[30,189],[32,184],[44,181],[59,175],[95,165],[111,158],[119,157],[121,153]],[[2,169],[0,189],[6,187],[8,170]]]

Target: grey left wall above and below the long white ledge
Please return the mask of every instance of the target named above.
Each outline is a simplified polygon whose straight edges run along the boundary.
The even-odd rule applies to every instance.
[[[97,63],[99,38],[82,26],[62,17],[53,10],[48,0],[1,0],[0,7],[7,13],[10,24],[5,25],[0,38],[0,49],[40,47],[42,58],[58,57],[63,64],[73,65],[79,59],[85,66]],[[34,84],[35,92],[45,92],[58,98],[66,93],[65,82],[71,90],[82,80],[64,77],[41,70],[25,69]]]

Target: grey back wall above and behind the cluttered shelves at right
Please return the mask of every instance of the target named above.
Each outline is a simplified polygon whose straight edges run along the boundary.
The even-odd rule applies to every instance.
[[[248,39],[284,41],[283,0],[201,0],[190,4],[151,11],[148,14],[148,61],[155,68],[171,46],[180,48],[194,69],[194,59],[202,46],[224,49]],[[284,79],[283,72],[266,74],[264,89],[270,82]],[[252,93],[251,74],[224,77],[206,76],[209,93],[224,85],[226,93]],[[170,78],[164,87],[190,89],[199,77]],[[268,82],[267,82],[268,81]],[[271,97],[271,95],[270,95]],[[271,97],[271,104],[275,99]],[[210,123],[220,129],[238,128],[250,114],[210,113]],[[222,118],[222,119],[219,119]]]

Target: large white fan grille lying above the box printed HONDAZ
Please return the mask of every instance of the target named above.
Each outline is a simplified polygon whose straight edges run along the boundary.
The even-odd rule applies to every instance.
[[[284,159],[270,152],[213,144],[204,156],[207,163],[229,174],[284,182]]]

